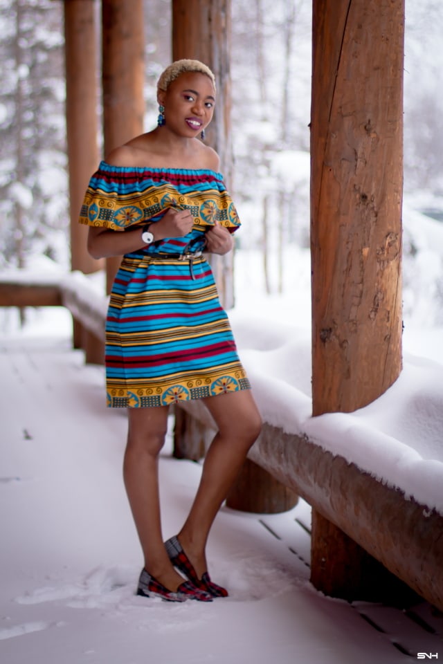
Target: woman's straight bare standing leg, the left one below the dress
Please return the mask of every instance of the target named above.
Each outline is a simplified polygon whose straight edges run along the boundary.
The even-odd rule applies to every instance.
[[[168,408],[129,408],[123,477],[145,569],[168,590],[183,582],[163,544],[159,498],[159,453],[165,442]]]

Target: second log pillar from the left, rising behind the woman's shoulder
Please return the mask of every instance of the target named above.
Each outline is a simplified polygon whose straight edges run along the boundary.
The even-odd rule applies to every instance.
[[[143,0],[102,0],[102,86],[105,156],[143,132]],[[107,259],[107,292],[120,266]]]

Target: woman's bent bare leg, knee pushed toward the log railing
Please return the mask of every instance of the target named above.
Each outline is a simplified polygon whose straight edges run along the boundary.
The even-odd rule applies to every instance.
[[[207,570],[205,548],[210,527],[262,427],[250,390],[220,394],[204,399],[204,403],[218,432],[206,454],[192,508],[178,534],[199,578]]]

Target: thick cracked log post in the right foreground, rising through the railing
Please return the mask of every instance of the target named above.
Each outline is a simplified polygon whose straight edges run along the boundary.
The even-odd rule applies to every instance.
[[[314,0],[313,8],[316,416],[367,405],[401,371],[404,0]],[[313,521],[311,579],[316,587],[359,598],[364,593],[359,579],[367,575],[363,570],[375,587],[374,568],[363,550],[359,555],[352,540],[315,511]],[[345,574],[337,575],[341,560]],[[346,578],[353,580],[351,590]]]

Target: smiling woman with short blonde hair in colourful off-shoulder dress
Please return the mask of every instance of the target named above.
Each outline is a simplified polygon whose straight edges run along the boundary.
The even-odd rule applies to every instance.
[[[261,421],[202,254],[230,251],[239,226],[219,158],[199,140],[214,75],[197,60],[174,62],[157,98],[158,126],[100,164],[80,222],[94,258],[124,255],[107,317],[107,397],[128,412],[123,475],[145,557],[138,594],[210,601],[228,593],[210,580],[208,533]],[[218,432],[188,518],[164,544],[157,468],[168,405],[196,398]]]

